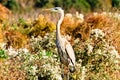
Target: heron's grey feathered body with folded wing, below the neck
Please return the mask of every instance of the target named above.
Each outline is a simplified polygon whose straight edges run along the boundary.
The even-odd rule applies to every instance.
[[[75,55],[73,54],[74,51],[72,49],[72,46],[65,38],[62,38],[59,40],[57,41],[57,48],[58,48],[58,53],[59,53],[61,62],[66,66],[74,67],[75,66]]]

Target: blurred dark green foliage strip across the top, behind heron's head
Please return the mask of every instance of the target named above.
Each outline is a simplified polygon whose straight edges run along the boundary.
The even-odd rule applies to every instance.
[[[0,0],[13,11],[28,11],[37,8],[60,6],[68,11],[103,11],[120,7],[120,0]]]

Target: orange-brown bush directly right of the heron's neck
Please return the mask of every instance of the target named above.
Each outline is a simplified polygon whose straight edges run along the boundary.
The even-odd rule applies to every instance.
[[[86,22],[82,22],[80,18],[66,15],[61,25],[61,33],[69,34],[72,39],[79,38],[83,41],[90,36],[91,27]]]

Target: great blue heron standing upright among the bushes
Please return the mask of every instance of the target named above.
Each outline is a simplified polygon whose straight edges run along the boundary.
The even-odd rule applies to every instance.
[[[64,19],[64,10],[60,7],[50,9],[52,12],[60,13],[60,19],[56,25],[56,46],[61,62],[69,67],[70,72],[75,71],[75,54],[71,44],[61,35],[60,26]]]

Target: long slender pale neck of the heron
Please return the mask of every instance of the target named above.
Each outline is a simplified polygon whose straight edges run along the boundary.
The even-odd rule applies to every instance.
[[[64,19],[64,11],[62,11],[62,12],[60,13],[60,19],[59,19],[59,21],[58,21],[58,23],[57,23],[57,27],[56,27],[56,33],[57,33],[56,36],[57,36],[57,39],[60,39],[60,38],[61,38],[60,26],[61,26],[61,24],[62,24],[63,19]]]

